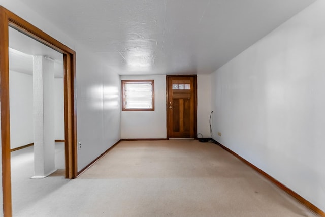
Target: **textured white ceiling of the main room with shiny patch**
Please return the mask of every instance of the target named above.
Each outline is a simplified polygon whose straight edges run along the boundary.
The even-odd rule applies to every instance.
[[[206,74],[314,0],[24,0],[129,74]]]

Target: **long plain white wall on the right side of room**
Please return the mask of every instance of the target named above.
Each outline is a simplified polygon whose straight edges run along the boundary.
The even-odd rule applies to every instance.
[[[315,2],[212,78],[216,140],[323,211],[324,11]]]

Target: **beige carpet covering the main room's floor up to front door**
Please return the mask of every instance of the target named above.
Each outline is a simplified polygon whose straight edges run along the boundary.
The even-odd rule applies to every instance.
[[[123,141],[77,179],[57,181],[15,216],[316,216],[196,140]]]

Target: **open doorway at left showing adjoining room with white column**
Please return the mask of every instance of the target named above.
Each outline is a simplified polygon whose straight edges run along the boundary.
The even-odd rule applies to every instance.
[[[43,78],[43,79],[39,79]],[[13,214],[65,176],[63,55],[9,27]],[[40,171],[42,170],[43,171]],[[64,182],[63,182],[64,183]],[[45,188],[46,187],[46,188]],[[22,197],[23,196],[23,197]]]

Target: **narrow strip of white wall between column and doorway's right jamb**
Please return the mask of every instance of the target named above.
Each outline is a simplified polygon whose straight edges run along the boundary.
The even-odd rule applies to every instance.
[[[54,138],[64,140],[64,83],[54,78]]]

